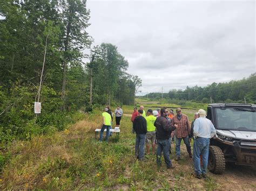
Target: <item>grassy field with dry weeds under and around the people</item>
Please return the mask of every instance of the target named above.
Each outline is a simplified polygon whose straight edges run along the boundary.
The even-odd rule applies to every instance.
[[[124,106],[123,110],[131,114],[132,107]],[[183,112],[192,119],[194,110]],[[102,125],[100,113],[84,115],[82,121],[65,131],[14,143],[9,150],[10,160],[0,175],[0,189],[256,189],[256,174],[251,169],[230,168],[223,175],[209,173],[205,180],[193,178],[192,159],[184,145],[181,160],[172,160],[174,169],[166,169],[164,161],[157,168],[156,155],[145,155],[145,161],[136,160],[135,135],[127,116],[122,118],[119,139],[113,134],[109,143],[100,143],[94,133]]]

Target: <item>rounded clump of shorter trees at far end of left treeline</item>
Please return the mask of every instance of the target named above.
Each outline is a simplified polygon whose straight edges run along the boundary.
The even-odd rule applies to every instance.
[[[128,62],[117,47],[103,43],[93,49],[91,58],[87,70],[93,77],[93,103],[132,105],[142,81],[126,73]]]

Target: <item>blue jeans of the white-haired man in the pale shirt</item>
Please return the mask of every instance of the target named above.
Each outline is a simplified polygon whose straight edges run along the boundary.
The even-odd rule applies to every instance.
[[[210,139],[198,137],[194,139],[194,151],[193,151],[193,161],[194,161],[194,171],[196,174],[206,174],[208,165],[208,155],[209,155],[209,145]],[[203,169],[200,165],[200,155],[203,157]]]

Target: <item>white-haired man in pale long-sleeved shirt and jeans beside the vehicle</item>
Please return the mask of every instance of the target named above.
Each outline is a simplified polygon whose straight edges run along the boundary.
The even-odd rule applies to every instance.
[[[199,109],[199,118],[194,121],[194,176],[206,178],[210,139],[216,135],[212,122],[206,118],[206,111]],[[203,156],[203,169],[200,165],[200,155]]]

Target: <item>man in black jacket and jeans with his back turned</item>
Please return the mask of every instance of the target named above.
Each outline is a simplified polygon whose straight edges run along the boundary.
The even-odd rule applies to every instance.
[[[147,122],[143,117],[143,110],[138,110],[138,116],[133,121],[133,129],[136,132],[135,155],[137,159],[144,159],[145,138],[147,133]]]

